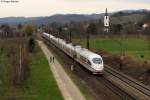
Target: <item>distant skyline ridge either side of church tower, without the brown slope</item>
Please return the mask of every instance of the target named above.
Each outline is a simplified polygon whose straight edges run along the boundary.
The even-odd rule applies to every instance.
[[[118,12],[109,13],[113,17],[128,16],[129,14],[150,13],[149,10],[122,10]],[[102,19],[104,13],[101,14],[56,14],[47,17],[6,17],[0,18],[0,24],[19,24],[19,23],[33,23],[33,24],[48,24],[48,23],[68,23],[80,22]]]

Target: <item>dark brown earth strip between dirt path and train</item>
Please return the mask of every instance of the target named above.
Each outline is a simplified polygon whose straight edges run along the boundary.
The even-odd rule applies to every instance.
[[[64,69],[70,70],[70,65],[73,63],[73,59],[71,59],[68,55],[64,54],[64,52],[59,50],[54,45],[49,45],[49,47],[51,48],[51,51],[53,53],[56,53],[55,56],[56,58],[58,58],[58,60],[59,59],[64,60],[65,62],[65,66],[63,66]],[[58,55],[59,57],[57,57]],[[91,95],[93,95],[94,99],[92,100],[122,100],[122,97],[118,96],[118,94],[115,94],[108,87],[104,86],[104,84],[107,83],[105,82],[102,83],[96,79],[96,77],[100,78],[99,76],[93,76],[91,73],[89,73],[88,70],[86,70],[80,64],[76,63],[75,70],[70,73],[72,73],[81,80],[80,84],[83,84],[87,88],[87,90],[91,93]]]

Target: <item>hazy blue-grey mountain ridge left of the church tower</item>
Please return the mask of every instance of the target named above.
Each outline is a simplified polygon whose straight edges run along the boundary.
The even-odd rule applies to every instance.
[[[47,17],[6,17],[0,18],[0,24],[19,24],[19,23],[34,23],[34,24],[46,24],[46,23],[68,23],[71,21],[89,21],[96,20],[102,17],[102,14],[57,14]]]

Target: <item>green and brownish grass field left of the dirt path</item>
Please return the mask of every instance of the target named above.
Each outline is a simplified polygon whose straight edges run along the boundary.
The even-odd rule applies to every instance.
[[[5,43],[5,45],[3,45]],[[12,57],[8,52],[15,46],[16,40],[0,41],[3,53],[0,53],[0,100],[63,100],[56,81],[49,70],[41,49],[36,46],[36,53],[29,55],[30,74],[22,86],[14,87]]]

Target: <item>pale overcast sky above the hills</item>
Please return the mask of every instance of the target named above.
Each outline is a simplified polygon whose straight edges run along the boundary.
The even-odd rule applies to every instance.
[[[2,2],[3,1],[3,2]],[[149,9],[150,0],[0,0],[0,17],[37,17],[54,14],[92,14],[127,9]]]

